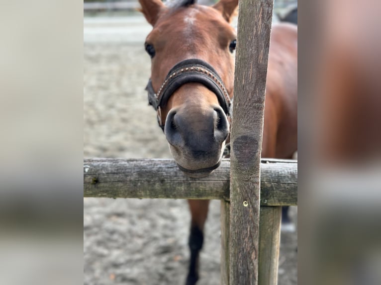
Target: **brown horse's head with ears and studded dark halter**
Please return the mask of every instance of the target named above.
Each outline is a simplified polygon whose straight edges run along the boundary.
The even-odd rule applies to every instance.
[[[153,26],[145,42],[150,104],[179,168],[207,176],[218,167],[230,131],[236,44],[230,21],[238,0],[139,2]]]

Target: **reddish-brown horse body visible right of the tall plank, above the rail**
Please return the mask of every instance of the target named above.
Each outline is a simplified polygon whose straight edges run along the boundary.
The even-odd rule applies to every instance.
[[[262,157],[291,158],[297,149],[297,28],[274,25],[266,81]]]

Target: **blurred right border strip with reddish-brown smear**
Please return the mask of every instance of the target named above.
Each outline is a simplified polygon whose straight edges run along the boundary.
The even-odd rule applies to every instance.
[[[299,208],[308,209],[299,253],[310,267],[300,266],[299,281],[381,284],[381,2],[324,0],[309,8],[316,33],[309,35],[312,84],[299,93],[310,111],[300,117],[310,156],[301,159],[308,173],[299,174],[307,181]],[[308,23],[299,20],[300,32]]]

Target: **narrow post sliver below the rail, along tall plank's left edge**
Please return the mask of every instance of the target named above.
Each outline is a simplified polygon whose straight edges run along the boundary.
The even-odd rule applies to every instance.
[[[221,200],[221,285],[229,285],[230,202]]]

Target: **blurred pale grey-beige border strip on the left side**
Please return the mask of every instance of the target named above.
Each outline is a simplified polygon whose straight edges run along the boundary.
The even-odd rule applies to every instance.
[[[0,9],[0,284],[83,279],[83,2]]]

